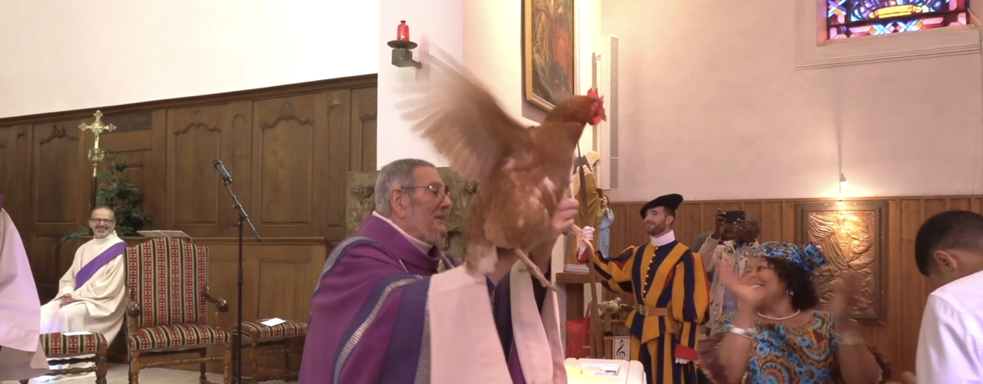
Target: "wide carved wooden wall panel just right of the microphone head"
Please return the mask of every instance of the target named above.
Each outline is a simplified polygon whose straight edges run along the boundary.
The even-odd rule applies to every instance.
[[[318,236],[326,220],[315,190],[326,176],[326,156],[317,143],[327,137],[322,94],[257,100],[253,104],[251,213],[265,237]],[[320,112],[320,113],[318,113]]]

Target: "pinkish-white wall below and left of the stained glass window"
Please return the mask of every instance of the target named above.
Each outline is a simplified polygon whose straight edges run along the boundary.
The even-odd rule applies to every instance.
[[[616,199],[836,197],[840,155],[847,197],[983,192],[979,54],[795,71],[796,1],[603,3]]]

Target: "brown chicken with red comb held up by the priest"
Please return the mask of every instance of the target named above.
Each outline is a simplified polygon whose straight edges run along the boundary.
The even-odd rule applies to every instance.
[[[445,54],[439,56],[446,57]],[[545,287],[556,287],[528,252],[540,246],[557,206],[570,188],[573,152],[587,124],[607,121],[596,89],[556,105],[541,126],[508,116],[494,96],[451,60],[432,57],[431,81],[399,105],[412,131],[431,141],[462,178],[478,183],[468,201],[462,232],[465,266],[484,277],[497,262],[495,247],[512,249]],[[580,228],[572,228],[588,247]]]

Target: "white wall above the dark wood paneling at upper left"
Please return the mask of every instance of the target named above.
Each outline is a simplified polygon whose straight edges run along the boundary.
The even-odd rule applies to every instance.
[[[374,74],[378,5],[3,0],[0,118]]]

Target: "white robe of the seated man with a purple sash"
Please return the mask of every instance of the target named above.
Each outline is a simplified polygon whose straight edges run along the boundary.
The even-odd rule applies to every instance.
[[[113,339],[123,325],[126,312],[126,260],[118,256],[99,268],[82,287],[76,287],[75,277],[95,256],[123,240],[111,233],[102,239],[92,239],[75,252],[72,267],[58,284],[58,296],[41,306],[41,332],[96,332]],[[60,298],[71,294],[72,302],[61,305]]]

